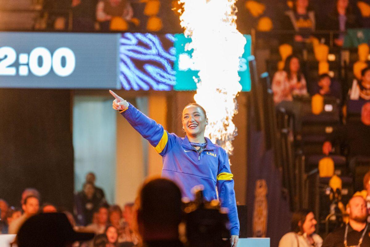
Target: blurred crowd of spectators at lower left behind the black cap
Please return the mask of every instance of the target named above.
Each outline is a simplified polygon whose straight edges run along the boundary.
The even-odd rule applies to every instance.
[[[87,174],[83,190],[75,194],[73,213],[47,202],[40,205],[40,201],[40,193],[34,188],[23,191],[21,208],[9,207],[5,200],[0,199],[0,233],[19,233],[22,225],[38,213],[63,213],[74,230],[96,234],[94,241],[97,242],[101,242],[104,236],[109,247],[129,247],[139,243],[140,238],[133,231],[134,203],[125,204],[124,211],[118,205],[108,205],[104,191],[95,186],[94,173]],[[91,247],[95,246],[94,241],[73,246]]]

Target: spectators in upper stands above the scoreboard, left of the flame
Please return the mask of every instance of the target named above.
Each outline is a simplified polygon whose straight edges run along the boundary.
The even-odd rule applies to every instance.
[[[81,32],[159,31],[162,29],[162,20],[158,13],[163,5],[168,4],[159,0],[44,0],[35,29]],[[171,13],[171,7],[166,7]]]

